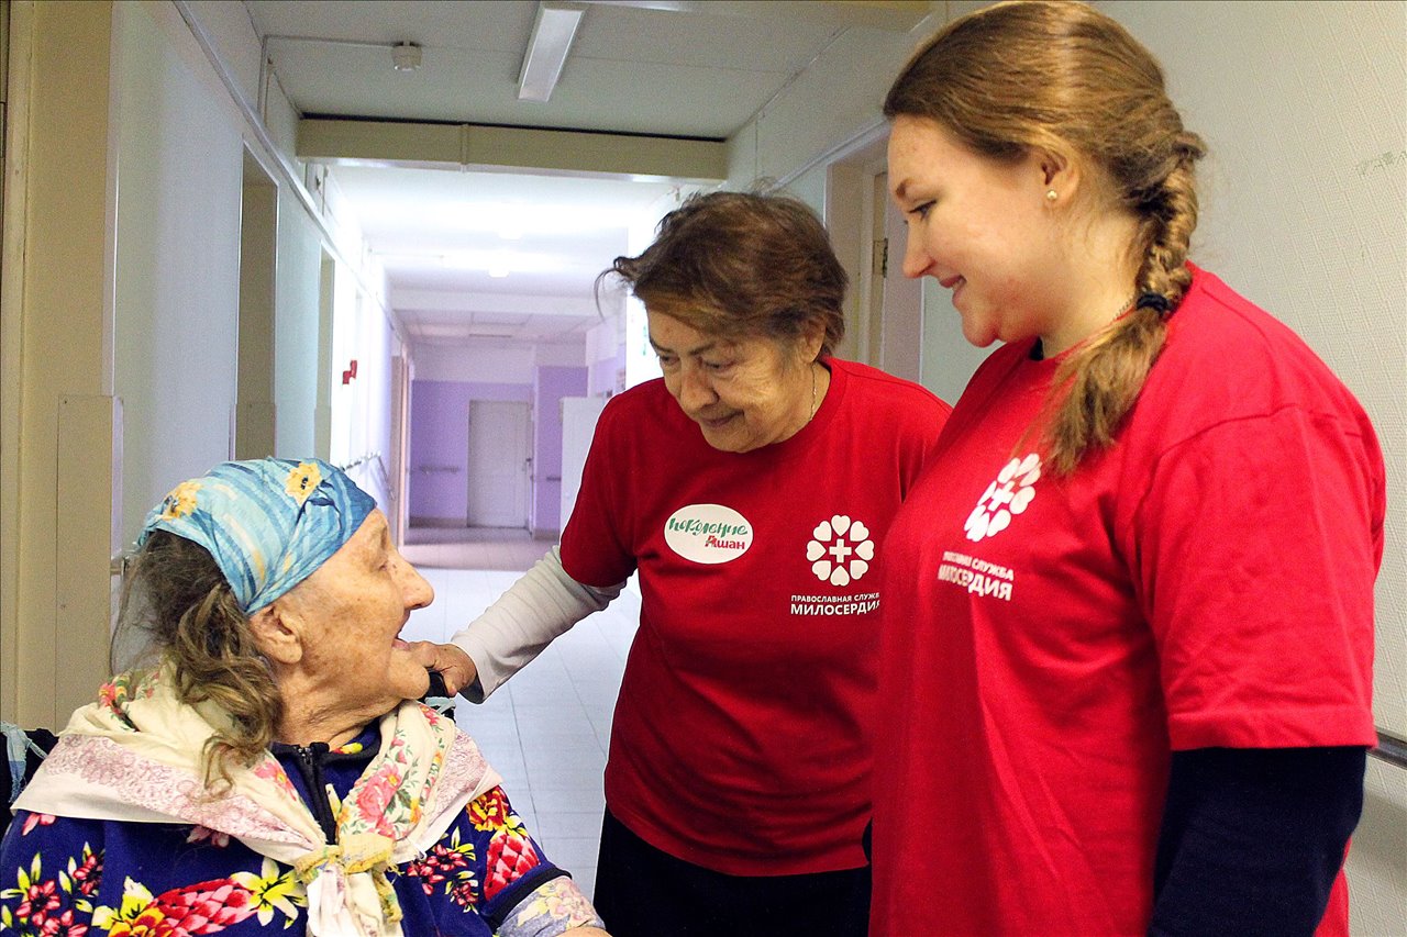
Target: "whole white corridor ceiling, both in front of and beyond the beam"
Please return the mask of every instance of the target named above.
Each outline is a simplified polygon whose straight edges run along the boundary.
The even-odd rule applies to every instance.
[[[547,103],[518,100],[535,0],[245,0],[305,117],[727,139],[846,30],[915,25],[929,3],[590,1]],[[340,42],[328,42],[336,39]],[[386,48],[424,48],[395,72]],[[348,42],[381,44],[348,45]],[[667,181],[336,166],[412,342],[580,342],[597,274]],[[656,208],[657,210],[657,208]],[[653,218],[653,215],[651,215]],[[505,229],[518,228],[518,231]],[[490,262],[508,262],[491,277]]]

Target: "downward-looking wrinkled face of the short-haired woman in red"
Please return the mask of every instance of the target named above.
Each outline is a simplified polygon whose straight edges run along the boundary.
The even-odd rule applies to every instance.
[[[722,339],[646,312],[664,385],[713,449],[768,446],[810,421],[819,340]]]

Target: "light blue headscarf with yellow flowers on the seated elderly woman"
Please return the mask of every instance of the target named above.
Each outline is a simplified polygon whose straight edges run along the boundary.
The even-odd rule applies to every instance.
[[[152,508],[136,539],[170,530],[210,550],[246,615],[308,578],[376,501],[321,459],[225,461]]]

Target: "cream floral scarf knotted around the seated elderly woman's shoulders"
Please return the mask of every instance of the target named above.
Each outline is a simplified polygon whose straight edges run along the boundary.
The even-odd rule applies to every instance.
[[[422,854],[464,806],[499,784],[469,736],[433,709],[402,702],[381,718],[381,747],[333,803],[338,843],[269,753],[211,795],[205,741],[229,716],[176,698],[167,668],[122,674],[73,713],[17,810],[97,820],[193,823],[291,865],[308,892],[308,933],[393,937],[401,909],[387,869]]]

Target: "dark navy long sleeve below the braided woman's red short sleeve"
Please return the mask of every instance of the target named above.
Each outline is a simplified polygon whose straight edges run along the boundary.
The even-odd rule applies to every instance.
[[[1313,934],[1363,809],[1362,747],[1172,753],[1150,937]]]

